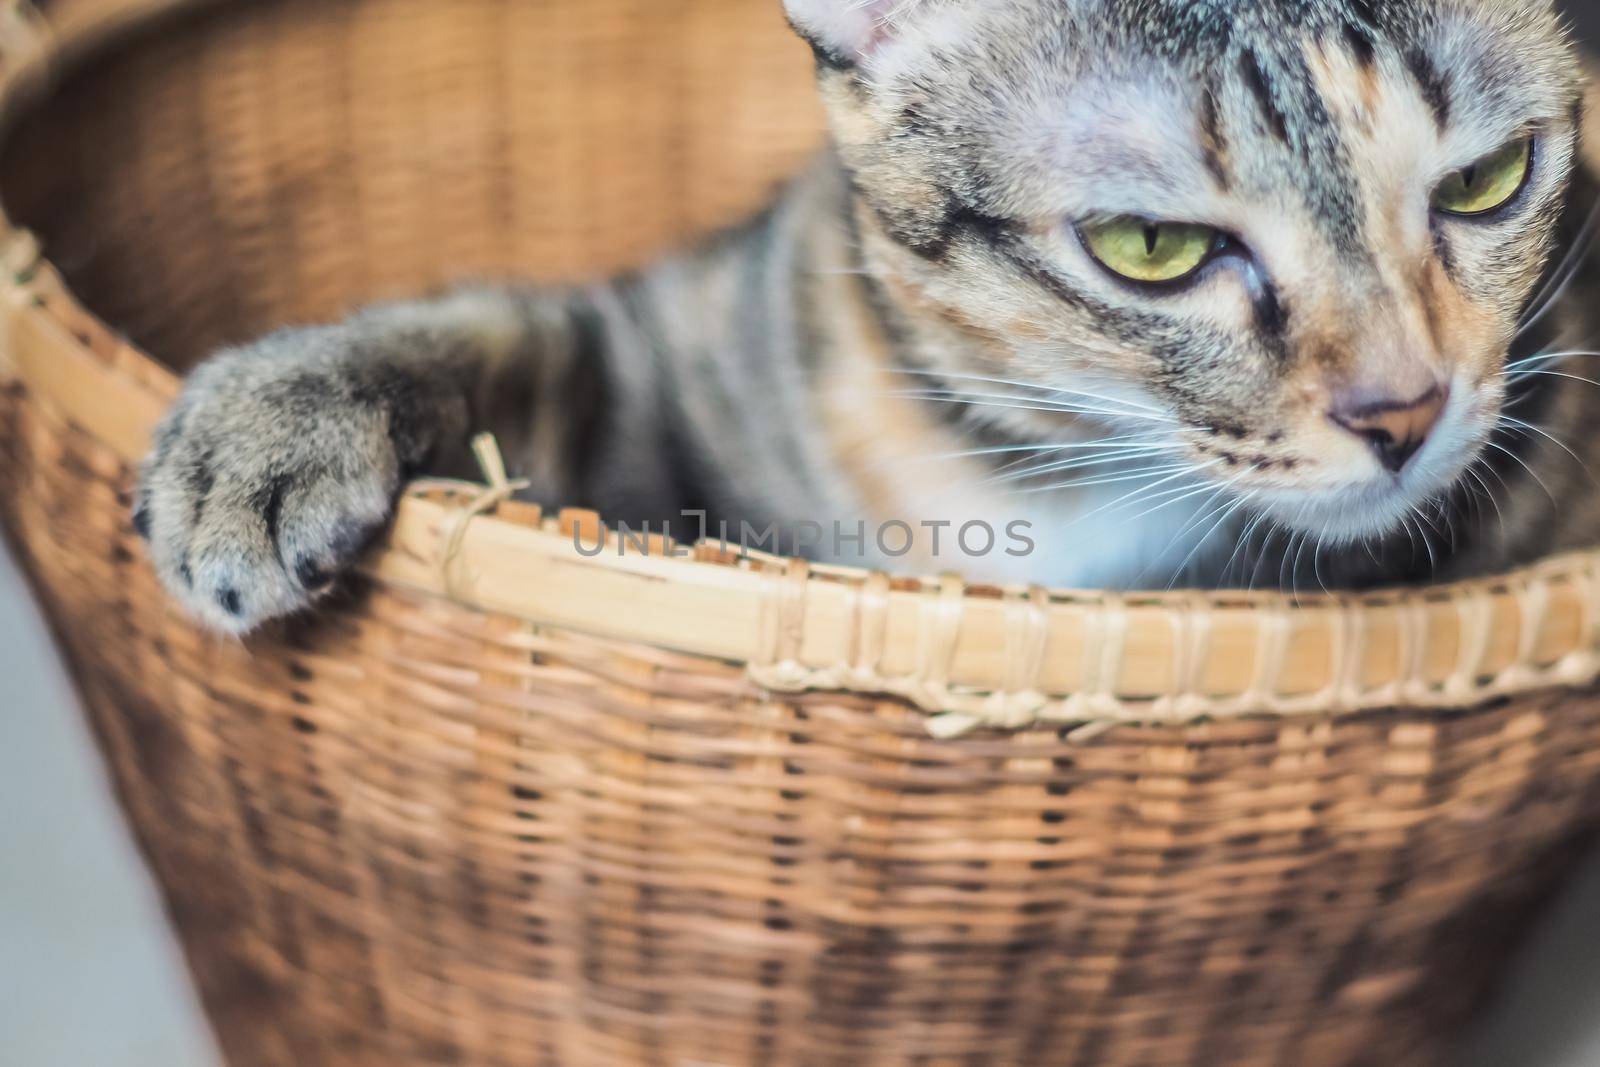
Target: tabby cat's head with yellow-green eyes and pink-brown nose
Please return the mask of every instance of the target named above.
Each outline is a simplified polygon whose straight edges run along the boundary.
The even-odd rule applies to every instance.
[[[910,358],[1016,435],[1096,411],[1334,539],[1488,446],[1576,165],[1546,0],[787,8]]]

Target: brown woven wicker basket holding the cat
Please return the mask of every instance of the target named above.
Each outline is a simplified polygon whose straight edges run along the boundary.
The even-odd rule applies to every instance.
[[[446,568],[434,485],[317,619],[157,589],[174,368],[750,210],[819,136],[778,6],[3,8],[0,510],[230,1062],[1440,1062],[1600,816],[1597,557],[1123,598],[504,506]]]

